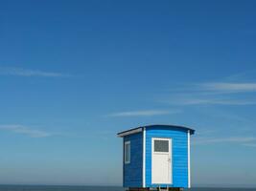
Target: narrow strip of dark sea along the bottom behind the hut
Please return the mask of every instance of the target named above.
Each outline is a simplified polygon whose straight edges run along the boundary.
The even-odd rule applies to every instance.
[[[0,191],[124,191],[111,186],[0,185]],[[189,191],[256,191],[256,188],[193,188]]]

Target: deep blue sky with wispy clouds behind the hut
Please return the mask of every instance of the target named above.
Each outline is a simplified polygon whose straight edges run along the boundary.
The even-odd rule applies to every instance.
[[[255,186],[254,1],[1,1],[0,183],[122,183],[116,133],[186,125],[194,185]]]

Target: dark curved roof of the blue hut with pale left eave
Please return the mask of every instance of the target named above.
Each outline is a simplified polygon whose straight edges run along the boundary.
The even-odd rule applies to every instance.
[[[136,128],[129,129],[127,131],[123,131],[117,134],[118,137],[123,138],[125,136],[128,136],[130,134],[136,134],[139,132],[142,132],[143,128],[148,128],[148,127],[155,127],[155,126],[162,126],[162,127],[167,127],[170,129],[179,129],[179,130],[184,130],[184,131],[189,131],[191,135],[195,134],[195,130],[184,127],[184,126],[179,126],[179,125],[161,125],[161,124],[153,124],[153,125],[146,125],[146,126],[140,126]]]

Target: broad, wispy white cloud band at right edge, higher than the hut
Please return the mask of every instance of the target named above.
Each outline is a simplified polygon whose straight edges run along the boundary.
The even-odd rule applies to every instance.
[[[161,102],[172,105],[255,105],[256,83],[204,82],[183,84]]]

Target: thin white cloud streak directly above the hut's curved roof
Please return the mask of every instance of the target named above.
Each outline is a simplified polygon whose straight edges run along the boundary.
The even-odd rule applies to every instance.
[[[152,116],[163,116],[170,114],[180,113],[180,110],[141,110],[141,111],[130,111],[120,112],[107,115],[107,117],[152,117]]]

